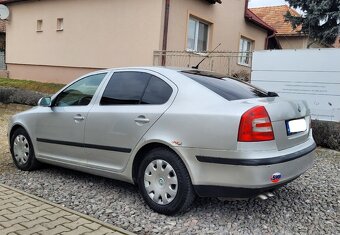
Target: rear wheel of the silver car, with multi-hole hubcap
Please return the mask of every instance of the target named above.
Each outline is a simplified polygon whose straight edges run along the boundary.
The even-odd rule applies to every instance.
[[[184,163],[166,148],[155,148],[145,155],[139,168],[138,186],[149,207],[165,215],[183,212],[195,200]]]

